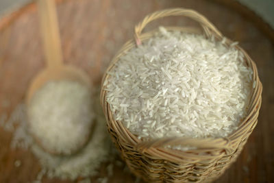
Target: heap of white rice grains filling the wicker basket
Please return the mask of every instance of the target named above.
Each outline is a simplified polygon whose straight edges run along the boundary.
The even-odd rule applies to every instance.
[[[236,130],[247,113],[253,72],[237,43],[224,43],[160,27],[108,73],[114,119],[144,139],[225,137]]]

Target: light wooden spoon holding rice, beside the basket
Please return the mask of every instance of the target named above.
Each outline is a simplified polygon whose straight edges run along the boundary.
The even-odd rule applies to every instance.
[[[36,93],[44,84],[50,81],[70,80],[90,87],[90,79],[84,71],[75,66],[64,65],[62,60],[61,41],[58,27],[58,19],[53,0],[38,0],[38,13],[42,42],[44,45],[47,66],[32,80],[27,90],[27,106]],[[90,130],[91,131],[91,130]],[[35,136],[34,139],[38,140]],[[88,141],[88,138],[86,139]],[[39,141],[36,141],[41,146]],[[83,145],[86,142],[83,142]],[[43,149],[47,149],[44,147]],[[54,152],[49,152],[55,154]]]

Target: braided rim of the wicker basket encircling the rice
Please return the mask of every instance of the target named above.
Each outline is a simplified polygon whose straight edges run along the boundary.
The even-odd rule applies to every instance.
[[[184,29],[184,27],[167,27],[168,31],[172,31],[174,29]],[[155,34],[156,30],[153,30],[151,32],[147,32],[145,34],[140,34],[140,40],[147,40],[148,38],[151,38]],[[225,36],[219,36],[214,34],[214,32],[211,32],[212,36],[214,38],[217,38],[219,40],[225,38]],[[232,41],[229,39],[226,39],[225,45],[229,46],[232,44]],[[129,145],[132,145],[134,149],[137,149],[138,151],[141,151],[142,153],[150,154],[152,156],[161,157],[164,159],[171,160],[171,157],[173,157],[173,160],[175,161],[181,161],[182,157],[186,158],[197,158],[199,159],[203,158],[201,154],[197,152],[206,152],[211,151],[212,154],[206,154],[204,155],[204,158],[208,158],[209,156],[214,156],[213,154],[216,154],[216,156],[223,156],[224,152],[225,154],[232,154],[234,151],[236,151],[236,147],[242,141],[245,141],[246,138],[251,134],[253,131],[253,128],[256,126],[256,123],[258,121],[258,112],[260,110],[260,106],[262,103],[262,83],[260,82],[260,79],[258,77],[258,70],[256,68],[255,62],[251,60],[251,58],[248,56],[248,54],[245,52],[244,49],[242,49],[240,46],[236,45],[235,48],[241,51],[244,55],[244,60],[247,62],[247,65],[251,67],[253,71],[252,76],[252,82],[256,82],[256,85],[254,88],[252,88],[251,93],[251,99],[249,101],[248,105],[248,111],[247,116],[245,119],[240,121],[238,123],[238,128],[234,130],[229,136],[225,138],[182,138],[182,137],[175,137],[175,138],[162,138],[157,139],[156,141],[142,141],[142,139],[138,139],[136,135],[132,134],[127,130],[125,126],[123,126],[123,123],[121,121],[114,121],[112,112],[110,110],[109,103],[105,99],[105,95],[107,93],[105,88],[105,84],[108,81],[108,71],[110,71],[116,62],[119,61],[119,58],[127,53],[129,49],[132,49],[133,47],[136,47],[136,44],[134,42],[134,39],[131,39],[127,41],[123,47],[116,53],[116,56],[112,59],[112,62],[110,62],[110,66],[105,71],[105,74],[103,75],[103,79],[101,82],[101,106],[103,107],[103,112],[105,113],[105,117],[107,119],[107,125],[109,130],[113,130],[114,132],[120,134],[119,141],[123,141],[123,143],[127,143]],[[160,142],[159,142],[160,141]],[[175,145],[176,143],[179,144],[191,144],[191,145],[199,145],[197,149],[191,149],[188,151],[177,151],[175,149],[171,148],[165,148],[164,145]],[[214,151],[218,151],[219,153],[214,153]],[[168,158],[166,157],[168,155]]]

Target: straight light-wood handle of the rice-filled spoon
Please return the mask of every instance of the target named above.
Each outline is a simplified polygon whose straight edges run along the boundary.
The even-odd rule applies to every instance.
[[[38,0],[38,14],[47,66],[56,69],[62,66],[63,58],[54,0]]]

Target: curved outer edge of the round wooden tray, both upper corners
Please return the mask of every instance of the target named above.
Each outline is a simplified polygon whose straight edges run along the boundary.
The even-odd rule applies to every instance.
[[[63,1],[67,1],[67,0],[55,0],[55,1],[56,3],[62,3]],[[269,25],[269,23],[266,23],[260,16],[258,16],[256,12],[253,12],[252,10],[247,8],[247,6],[242,5],[241,3],[235,0],[208,0],[208,1],[213,1],[215,3],[219,3],[221,5],[225,5],[229,8],[232,8],[233,10],[235,10],[236,12],[238,12],[239,14],[247,18],[249,21],[254,23],[256,27],[258,27],[260,31],[262,31],[266,36],[268,36],[274,44],[274,29]],[[19,16],[21,16],[25,12],[34,12],[35,10],[36,10],[36,3],[32,1],[10,14],[5,14],[0,19],[0,31],[7,28]]]

